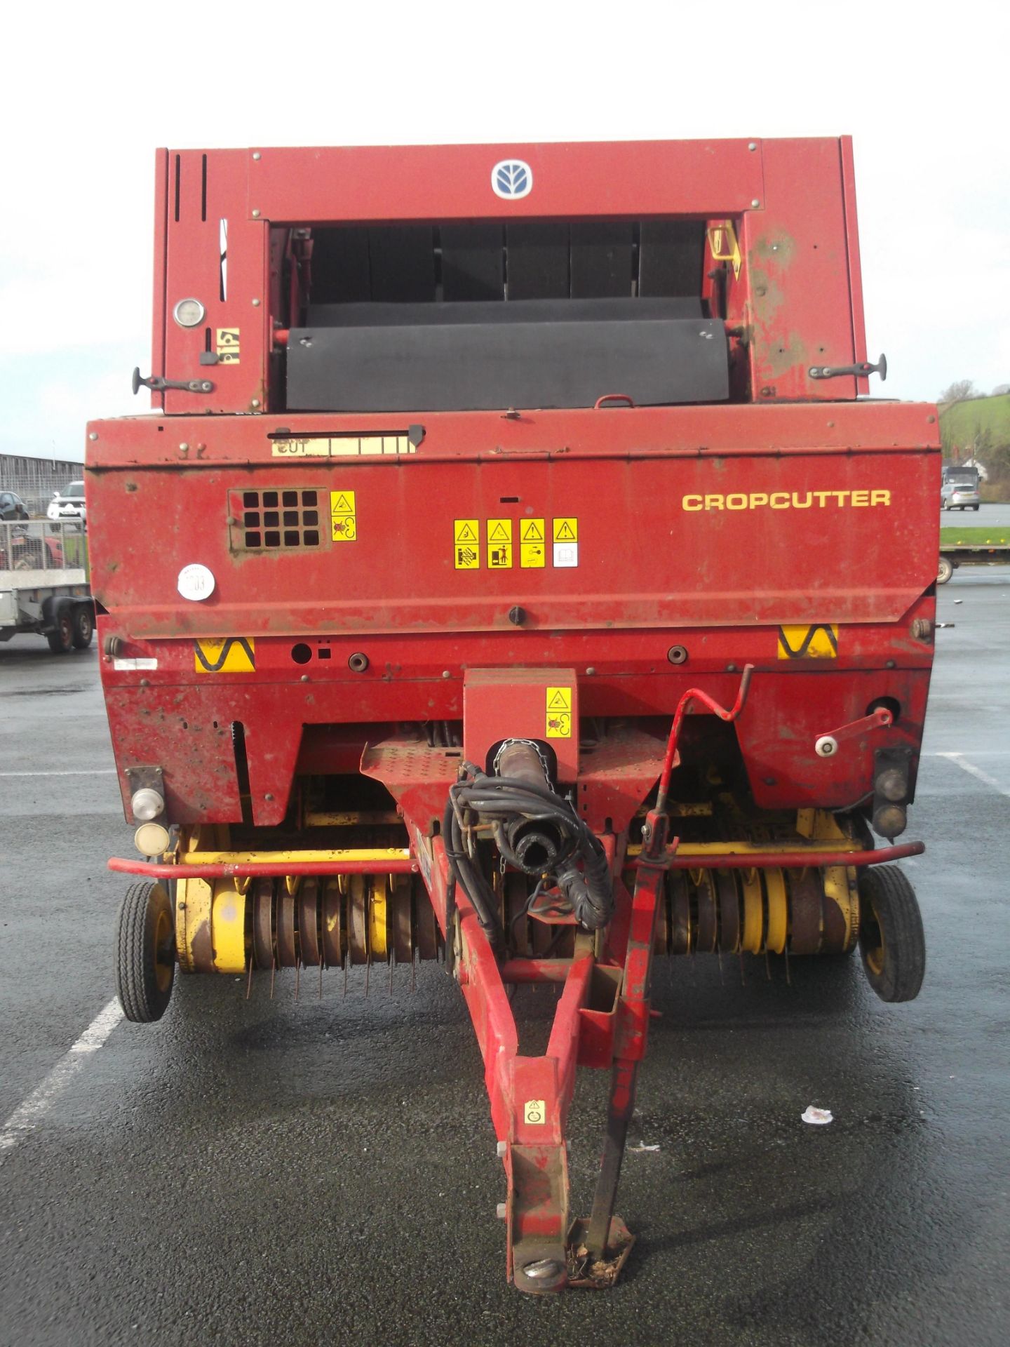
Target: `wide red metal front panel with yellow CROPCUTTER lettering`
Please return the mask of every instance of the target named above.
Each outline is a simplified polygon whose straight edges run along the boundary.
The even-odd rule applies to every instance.
[[[206,439],[203,457],[183,461],[186,490],[178,466],[137,470],[164,443],[158,426],[102,424],[93,461],[137,466],[94,493],[92,583],[139,638],[502,632],[516,605],[527,632],[896,621],[936,574],[940,455],[912,449],[935,442],[929,415],[896,404],[446,415],[428,418],[407,458],[295,462],[271,457],[263,419],[186,420],[172,438],[189,453]],[[805,449],[788,453],[797,439]],[[249,486],[351,490],[356,537],[232,552],[228,492]],[[155,508],[168,567],[145,564]],[[548,532],[571,520],[578,564],[524,568],[514,555],[489,568],[487,521],[501,516],[516,540],[528,520]],[[479,532],[470,570],[455,566],[461,520]],[[189,563],[215,577],[205,603],[175,593]]]

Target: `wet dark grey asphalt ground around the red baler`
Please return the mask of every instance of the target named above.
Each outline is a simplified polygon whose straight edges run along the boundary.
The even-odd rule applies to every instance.
[[[1010,1321],[1010,567],[940,591],[908,863],[929,966],[659,967],[610,1292],[505,1285],[477,1045],[438,966],[114,1012],[129,854],[97,655],[0,647],[0,1342],[1002,1344]],[[71,773],[71,775],[67,775]],[[73,775],[77,773],[77,775]],[[552,997],[524,994],[543,1028]],[[90,1030],[85,1033],[85,1030]],[[82,1037],[83,1036],[83,1037]],[[571,1119],[588,1207],[605,1080]],[[835,1121],[811,1127],[808,1105]],[[4,1121],[7,1119],[7,1121]],[[659,1148],[659,1149],[638,1149]]]

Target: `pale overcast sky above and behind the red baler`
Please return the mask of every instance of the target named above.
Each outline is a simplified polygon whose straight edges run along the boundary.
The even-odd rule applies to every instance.
[[[0,82],[0,451],[145,411],[154,150],[855,137],[874,392],[1010,383],[1010,11],[18,5]]]

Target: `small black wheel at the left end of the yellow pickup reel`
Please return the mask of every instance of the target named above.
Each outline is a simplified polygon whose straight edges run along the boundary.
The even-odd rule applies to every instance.
[[[116,935],[116,994],[133,1024],[160,1020],[175,981],[172,905],[160,884],[132,884],[120,908]],[[172,956],[164,958],[171,936]],[[162,958],[159,958],[159,950]]]

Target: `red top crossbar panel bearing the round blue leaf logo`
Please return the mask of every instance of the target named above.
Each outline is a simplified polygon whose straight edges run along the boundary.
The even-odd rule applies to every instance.
[[[836,144],[835,141],[826,141]],[[562,216],[735,216],[764,201],[746,140],[369,145],[248,151],[246,216],[275,224]],[[259,158],[255,158],[259,156]],[[532,191],[502,199],[492,168],[524,160]]]

